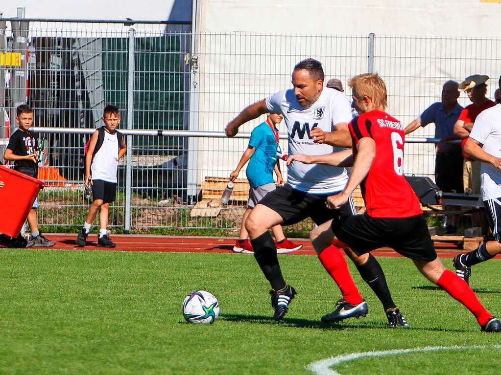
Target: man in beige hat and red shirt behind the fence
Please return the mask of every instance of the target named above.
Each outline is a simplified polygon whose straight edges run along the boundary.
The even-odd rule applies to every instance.
[[[473,122],[476,116],[484,109],[496,105],[492,100],[487,99],[487,84],[489,79],[487,75],[473,74],[466,77],[459,83],[458,90],[466,91],[471,104],[466,106],[459,114],[459,118],[454,124],[454,134],[462,139],[461,146],[463,148],[463,184],[464,191],[471,191],[473,194],[480,194],[480,161],[473,160],[467,153],[464,152],[464,144],[468,139]],[[473,226],[480,226],[482,234],[487,232],[487,221],[484,212],[475,212],[471,215]]]

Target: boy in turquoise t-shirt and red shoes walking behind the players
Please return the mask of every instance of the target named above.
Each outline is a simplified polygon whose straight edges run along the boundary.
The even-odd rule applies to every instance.
[[[283,118],[283,114],[268,113],[266,121],[256,126],[252,134],[250,134],[247,149],[243,152],[236,169],[229,175],[229,179],[234,181],[240,169],[250,160],[245,170],[250,184],[249,200],[247,209],[242,217],[240,235],[233,246],[233,251],[235,252],[254,253],[252,244],[250,244],[248,239],[249,234],[245,229],[245,221],[261,198],[269,191],[276,189],[277,186],[273,179],[274,170],[277,174],[279,185],[284,183],[277,160],[277,145],[279,141],[277,124],[282,122]],[[286,238],[281,225],[273,226],[272,231],[276,239],[275,245],[277,246],[277,253],[292,252],[303,247],[303,245],[298,245]]]

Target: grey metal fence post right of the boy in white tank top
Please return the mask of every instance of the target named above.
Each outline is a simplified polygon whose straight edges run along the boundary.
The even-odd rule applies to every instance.
[[[134,29],[129,28],[129,66],[127,71],[127,129],[134,127]],[[125,228],[130,232],[132,201],[132,136],[127,137],[127,158],[125,160]]]

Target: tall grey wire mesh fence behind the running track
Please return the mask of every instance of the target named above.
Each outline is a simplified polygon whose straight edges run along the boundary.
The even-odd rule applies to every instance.
[[[42,192],[39,221],[54,230],[81,225],[88,206],[81,183],[89,135],[65,129],[93,129],[101,123],[105,104],[116,104],[122,129],[172,132],[127,137],[111,225],[150,231],[237,228],[243,201],[221,207],[217,216],[192,214],[203,197],[204,181],[229,176],[246,147],[244,138],[212,135],[220,135],[228,120],[247,104],[290,87],[297,61],[317,58],[327,78],[338,77],[345,84],[355,74],[378,71],[388,87],[388,111],[406,124],[440,100],[445,80],[462,80],[471,73],[497,76],[500,42],[374,34],[216,34],[160,21],[0,18],[4,58],[0,60],[4,61],[0,63],[0,105],[5,107],[0,109],[0,138],[15,130],[13,113],[23,101],[35,108],[36,126],[61,129],[44,136],[49,165],[66,179],[66,186]],[[489,86],[490,96],[494,86]],[[465,96],[460,104],[468,104]],[[250,121],[241,131],[249,132],[262,120]],[[195,131],[210,133],[185,136]],[[415,133],[433,134],[433,125]],[[281,142],[287,149],[286,141]],[[433,144],[411,143],[405,151],[407,173],[433,177]]]

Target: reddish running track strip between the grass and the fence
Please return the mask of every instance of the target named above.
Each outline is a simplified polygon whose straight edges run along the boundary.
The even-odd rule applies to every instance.
[[[167,236],[167,235],[135,235],[114,234],[112,239],[117,247],[105,248],[97,246],[97,235],[91,234],[85,247],[75,243],[76,234],[46,234],[47,238],[56,241],[51,248],[63,250],[115,250],[115,251],[157,251],[157,252],[226,252],[231,253],[234,238],[230,237],[202,237],[202,236]],[[303,248],[291,254],[315,255],[309,240],[298,238],[294,242],[303,244]],[[435,242],[438,255],[443,258],[451,258],[459,252],[463,252],[451,243]],[[375,256],[401,256],[396,251],[383,247],[372,251]],[[496,256],[501,258],[501,255]]]

